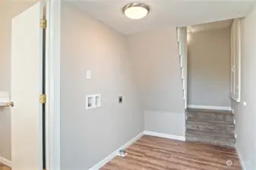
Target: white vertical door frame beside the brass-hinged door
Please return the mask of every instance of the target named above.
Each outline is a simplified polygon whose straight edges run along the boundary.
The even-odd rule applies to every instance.
[[[46,167],[60,170],[61,0],[46,2]]]

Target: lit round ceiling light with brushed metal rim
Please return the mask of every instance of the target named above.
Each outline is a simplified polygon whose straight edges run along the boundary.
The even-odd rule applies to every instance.
[[[142,3],[131,3],[125,5],[125,7],[122,8],[122,11],[126,17],[131,18],[132,20],[138,20],[147,16],[150,12],[150,7]]]

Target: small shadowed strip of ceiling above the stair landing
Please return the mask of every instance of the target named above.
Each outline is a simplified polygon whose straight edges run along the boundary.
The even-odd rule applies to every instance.
[[[201,32],[213,29],[229,28],[232,24],[232,20],[221,20],[212,23],[203,23],[194,26],[188,26],[188,32]]]

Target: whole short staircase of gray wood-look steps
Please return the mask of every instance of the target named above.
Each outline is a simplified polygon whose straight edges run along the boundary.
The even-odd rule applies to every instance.
[[[187,109],[186,114],[186,141],[235,146],[232,111]]]

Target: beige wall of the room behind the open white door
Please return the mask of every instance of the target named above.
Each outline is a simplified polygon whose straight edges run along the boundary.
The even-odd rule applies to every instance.
[[[0,2],[0,91],[11,89],[11,18],[35,2]],[[0,107],[0,157],[11,160],[11,112]]]

